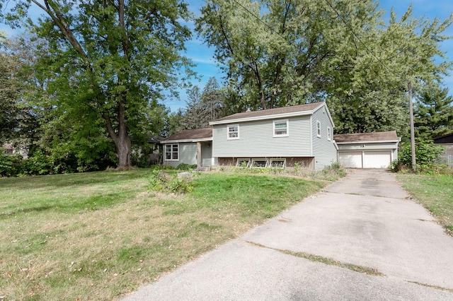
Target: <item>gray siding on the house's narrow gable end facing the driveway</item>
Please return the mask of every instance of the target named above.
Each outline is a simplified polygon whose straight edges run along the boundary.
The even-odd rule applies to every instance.
[[[317,135],[316,121],[321,122],[321,137]],[[311,140],[313,141],[313,154],[315,170],[322,170],[323,167],[337,161],[337,150],[333,143],[333,124],[328,117],[326,107],[316,110],[311,116]],[[331,128],[331,140],[327,138],[327,128]]]

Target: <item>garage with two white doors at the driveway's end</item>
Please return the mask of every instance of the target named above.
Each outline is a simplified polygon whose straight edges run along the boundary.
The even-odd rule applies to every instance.
[[[398,160],[396,131],[334,135],[338,162],[348,168],[388,168]]]

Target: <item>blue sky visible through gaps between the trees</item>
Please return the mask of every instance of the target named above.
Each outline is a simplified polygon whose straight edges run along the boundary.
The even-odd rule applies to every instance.
[[[187,0],[186,0],[187,1]],[[203,0],[188,0],[187,1],[190,10],[195,14],[200,13]],[[408,6],[413,4],[413,16],[417,18],[428,18],[434,20],[434,18],[440,18],[445,20],[448,16],[453,13],[453,1],[452,0],[381,0],[379,1],[380,7],[386,11],[386,18],[389,16],[391,8],[397,13],[397,18],[401,17],[406,12]],[[10,3],[11,5],[11,3]],[[33,12],[32,12],[33,13]],[[35,12],[36,13],[36,12]],[[193,24],[189,24],[193,28]],[[8,35],[13,35],[15,32],[3,24],[0,24],[0,30],[6,32]],[[453,26],[447,29],[446,35],[453,36]],[[222,71],[217,66],[216,61],[212,58],[214,52],[203,44],[202,40],[198,40],[194,35],[193,40],[187,43],[186,56],[190,57],[197,66],[195,71],[201,77],[200,81],[193,81],[193,84],[198,85],[200,88],[204,88],[205,84],[210,77],[215,76],[219,83],[222,82]],[[448,61],[453,60],[453,40],[447,40],[442,42],[441,48],[446,52]],[[449,88],[449,95],[453,95],[453,76],[447,76],[444,78],[444,84]],[[180,100],[167,99],[164,104],[171,108],[172,112],[175,112],[180,107],[185,107],[186,95],[185,91],[180,91]]]

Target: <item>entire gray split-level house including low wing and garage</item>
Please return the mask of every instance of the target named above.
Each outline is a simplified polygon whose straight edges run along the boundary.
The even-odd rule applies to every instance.
[[[232,114],[210,122],[208,128],[185,130],[165,138],[161,141],[164,165],[299,165],[322,170],[338,160],[345,167],[386,168],[397,158],[395,131],[336,135],[340,144],[333,129],[326,102]],[[369,163],[376,160],[377,163]]]

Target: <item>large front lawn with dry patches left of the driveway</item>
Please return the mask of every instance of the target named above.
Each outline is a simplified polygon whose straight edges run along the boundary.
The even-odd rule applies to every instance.
[[[0,179],[0,297],[118,299],[327,184],[203,173],[178,196],[148,191],[150,175]]]

